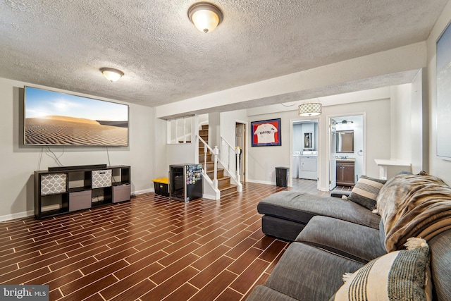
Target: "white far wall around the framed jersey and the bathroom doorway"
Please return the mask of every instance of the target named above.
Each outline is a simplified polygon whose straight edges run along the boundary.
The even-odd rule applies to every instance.
[[[337,96],[338,97],[338,96]],[[341,97],[346,97],[342,95]],[[378,166],[374,159],[390,158],[390,99],[378,99],[337,106],[323,106],[319,116],[319,185],[328,190],[328,126],[327,118],[333,116],[365,115],[367,176],[378,178]],[[281,118],[280,147],[249,147],[248,180],[257,183],[276,183],[276,166],[290,166],[292,146],[290,145],[290,120],[297,120],[296,111],[283,111],[249,116],[251,121]],[[365,149],[364,149],[365,151]]]

